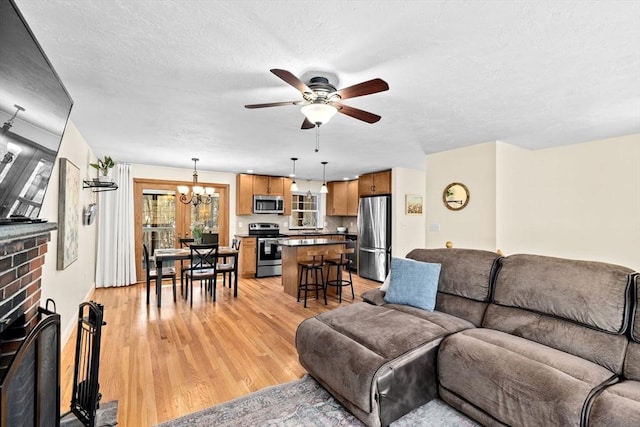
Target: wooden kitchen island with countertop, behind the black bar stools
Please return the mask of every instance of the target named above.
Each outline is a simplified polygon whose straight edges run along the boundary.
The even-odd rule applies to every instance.
[[[308,251],[325,250],[329,258],[337,258],[334,255],[338,249],[343,249],[346,242],[338,239],[296,239],[281,240],[282,246],[282,287],[292,297],[298,297],[298,280],[300,280],[299,260],[308,260]],[[326,258],[326,257],[325,257]],[[331,270],[332,272],[335,269]],[[334,273],[335,274],[335,273]],[[324,270],[324,278],[327,280],[327,268]],[[335,278],[333,278],[335,280]]]

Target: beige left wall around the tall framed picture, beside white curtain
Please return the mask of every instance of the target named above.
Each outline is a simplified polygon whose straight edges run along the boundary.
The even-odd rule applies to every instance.
[[[89,166],[89,163],[95,162],[96,157],[71,120],[62,138],[40,212],[41,218],[51,222],[58,222],[60,158],[67,158],[80,168],[82,179],[95,176],[96,171]],[[90,190],[80,189],[79,191],[81,204],[79,209],[81,210],[80,218],[82,218],[82,209],[89,203],[96,202],[97,197]],[[97,220],[99,218],[98,207]],[[92,225],[79,224],[78,231],[78,259],[64,270],[56,270],[58,232],[53,231],[42,270],[42,305],[47,298],[52,298],[56,302],[57,311],[61,316],[63,343],[67,341],[77,322],[78,305],[88,299],[95,287],[97,221]]]

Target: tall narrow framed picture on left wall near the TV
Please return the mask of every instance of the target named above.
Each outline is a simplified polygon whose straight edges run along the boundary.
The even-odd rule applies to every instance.
[[[80,169],[68,159],[60,159],[58,188],[58,260],[64,270],[78,259],[80,226]]]

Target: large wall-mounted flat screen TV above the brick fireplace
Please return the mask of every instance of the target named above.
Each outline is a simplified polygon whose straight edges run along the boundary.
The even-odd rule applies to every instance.
[[[13,0],[0,0],[0,223],[39,217],[72,105]]]

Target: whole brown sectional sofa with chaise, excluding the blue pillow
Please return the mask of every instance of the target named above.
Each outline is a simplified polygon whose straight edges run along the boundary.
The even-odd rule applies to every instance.
[[[485,425],[640,425],[632,270],[470,249],[407,258],[441,264],[433,312],[375,290],[296,334],[301,364],[364,423],[439,396]]]

